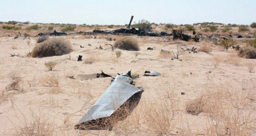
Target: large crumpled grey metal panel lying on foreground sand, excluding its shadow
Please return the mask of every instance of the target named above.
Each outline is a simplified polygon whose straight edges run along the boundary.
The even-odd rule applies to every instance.
[[[117,75],[96,103],[75,125],[75,129],[97,128],[101,130],[104,128],[105,124],[100,121],[113,115],[129,98],[142,92],[132,84],[133,81],[128,74]]]

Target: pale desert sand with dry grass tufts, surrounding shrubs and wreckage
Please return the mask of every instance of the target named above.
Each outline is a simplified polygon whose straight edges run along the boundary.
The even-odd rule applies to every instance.
[[[161,27],[163,26],[155,27],[155,31],[161,31],[163,29]],[[92,31],[93,28],[76,28],[75,31],[81,29]],[[214,45],[212,39],[205,38],[200,38],[200,42],[186,42],[168,41],[168,37],[128,35],[127,37],[134,37],[138,41],[140,54],[135,58],[136,51],[115,49],[112,52],[107,44],[114,45],[115,41],[107,41],[103,38],[104,36],[114,39],[123,37],[122,35],[99,35],[96,39],[87,39],[82,35],[71,34],[62,36],[65,40],[69,40],[74,48],[69,54],[70,60],[68,54],[32,58],[27,57],[27,53],[37,44],[37,37],[34,35],[47,30],[28,32],[31,35],[29,45],[28,40],[23,40],[23,37],[13,39],[17,31],[7,31],[2,27],[0,31],[0,100],[5,99],[0,105],[0,135],[22,135],[22,130],[31,128],[30,125],[38,127],[38,122],[44,128],[40,130],[42,135],[215,135],[218,132],[212,131],[214,126],[220,132],[230,131],[233,135],[242,133],[253,135],[253,132],[255,134],[256,70],[249,72],[248,64],[252,63],[255,66],[256,60],[237,57],[237,51],[232,47],[226,51]],[[11,37],[7,37],[7,33],[11,33]],[[227,34],[223,33],[223,35]],[[241,46],[246,44],[239,39],[235,40]],[[212,51],[209,53],[198,51],[205,45],[212,48]],[[103,50],[95,49],[99,46]],[[198,53],[181,51],[180,58],[174,60],[171,60],[173,56],[159,55],[161,50],[176,52],[177,46],[195,47]],[[147,50],[148,47],[154,49]],[[104,50],[106,48],[109,49]],[[117,58],[116,51],[122,52],[121,57]],[[11,57],[10,54],[13,53],[20,55]],[[77,61],[78,55],[83,56],[83,61]],[[86,64],[89,59],[92,63]],[[47,61],[56,61],[58,64],[49,71],[44,65]],[[134,72],[140,74],[139,78],[134,79],[135,86],[144,88],[139,105],[126,120],[118,122],[112,131],[74,130],[73,126],[108,87],[111,77],[79,80],[70,79],[69,76],[95,74],[100,73],[101,70],[109,74],[126,73],[129,70],[132,74]],[[162,75],[143,76],[146,70],[156,71]],[[19,90],[6,90],[6,86],[13,82],[14,77],[19,77]],[[185,95],[181,95],[181,92],[185,92]],[[229,120],[230,124],[241,127],[237,132],[225,121],[217,120],[217,117],[215,120],[214,115],[218,113],[214,113],[214,110],[220,110],[218,106],[210,107],[212,112],[189,114],[186,111],[188,103],[205,93],[213,97],[204,101],[208,104],[227,102],[216,103],[220,107],[229,108],[223,112],[225,115],[230,115],[227,118],[231,119],[236,117],[235,114],[242,112],[239,117],[244,115],[245,118],[254,119],[248,124],[251,125],[250,130],[241,127],[243,122]],[[231,104],[230,101],[234,103]],[[159,108],[159,105],[162,108]],[[152,113],[150,110],[157,112]],[[238,110],[240,111],[237,112]],[[210,113],[213,116],[210,116]],[[217,121],[219,122],[216,123]],[[167,126],[167,130],[160,129],[163,126]],[[39,135],[37,132],[31,133]]]

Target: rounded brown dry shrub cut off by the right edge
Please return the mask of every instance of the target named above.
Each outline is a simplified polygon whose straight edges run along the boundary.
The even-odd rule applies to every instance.
[[[247,59],[256,59],[256,49],[253,47],[242,47],[238,51],[238,55]]]

